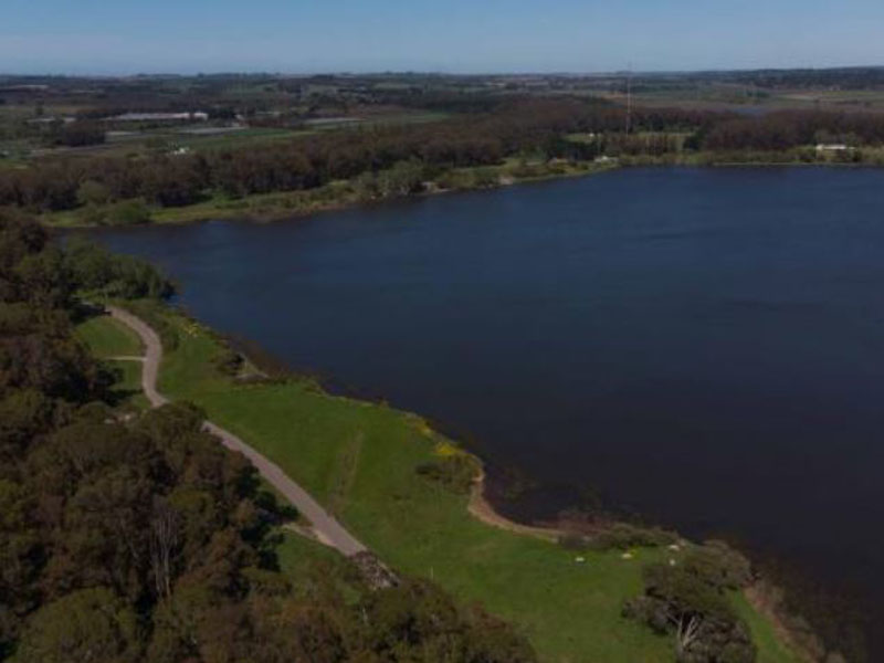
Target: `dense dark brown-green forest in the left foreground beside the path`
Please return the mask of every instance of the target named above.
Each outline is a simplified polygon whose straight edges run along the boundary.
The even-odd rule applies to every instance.
[[[170,287],[0,212],[0,660],[534,661],[428,581],[282,573],[281,509],[199,410],[112,408],[107,367],[72,333],[76,295]]]

